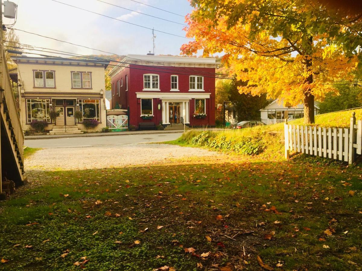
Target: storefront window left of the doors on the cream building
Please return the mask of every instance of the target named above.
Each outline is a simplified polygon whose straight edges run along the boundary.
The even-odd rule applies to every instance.
[[[26,99],[26,112],[28,122],[45,120],[50,122],[50,99]]]

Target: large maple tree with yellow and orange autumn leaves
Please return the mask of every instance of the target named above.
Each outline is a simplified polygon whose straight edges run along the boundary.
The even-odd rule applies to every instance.
[[[308,0],[191,0],[181,51],[224,53],[230,74],[247,82],[240,93],[304,104],[314,122],[314,100],[355,80],[362,44],[361,16],[331,11]]]

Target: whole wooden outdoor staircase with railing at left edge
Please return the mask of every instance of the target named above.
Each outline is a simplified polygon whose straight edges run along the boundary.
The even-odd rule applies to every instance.
[[[2,47],[1,47],[2,49]],[[0,52],[0,199],[6,198],[2,180],[13,181],[16,186],[24,184],[24,133],[4,50]]]

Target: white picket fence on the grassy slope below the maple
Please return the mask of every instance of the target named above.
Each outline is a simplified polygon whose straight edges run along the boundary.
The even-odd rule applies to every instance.
[[[295,151],[352,164],[362,154],[362,120],[352,113],[349,128],[284,124],[285,158]]]

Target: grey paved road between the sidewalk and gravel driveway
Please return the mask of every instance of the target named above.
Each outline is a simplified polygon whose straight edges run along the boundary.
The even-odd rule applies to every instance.
[[[160,134],[134,134],[122,136],[103,137],[69,137],[54,139],[32,139],[25,140],[24,145],[31,148],[66,148],[66,147],[89,147],[89,146],[119,146],[138,143],[162,142],[177,139],[181,133]]]

